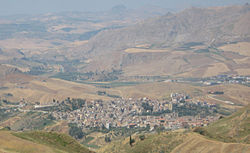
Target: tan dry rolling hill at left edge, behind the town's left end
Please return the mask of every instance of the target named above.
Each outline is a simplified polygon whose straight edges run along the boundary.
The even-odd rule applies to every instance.
[[[108,100],[109,97],[97,95],[98,89],[92,85],[74,83],[60,79],[39,79],[30,77],[29,79],[22,75],[15,76],[18,80],[11,79],[3,81],[4,90],[0,90],[0,96],[10,101],[20,101],[24,99],[27,102],[48,103],[53,99],[64,100],[67,97],[83,98],[88,100],[103,99]],[[8,78],[10,79],[10,77]],[[12,96],[5,96],[6,94]]]

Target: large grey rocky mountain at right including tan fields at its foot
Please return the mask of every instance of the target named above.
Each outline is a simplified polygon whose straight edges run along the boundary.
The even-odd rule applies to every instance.
[[[242,74],[249,67],[249,54],[219,47],[249,45],[249,21],[249,5],[190,8],[104,30],[78,50],[91,61],[85,71],[122,69],[125,76]],[[243,59],[244,64],[237,62]]]

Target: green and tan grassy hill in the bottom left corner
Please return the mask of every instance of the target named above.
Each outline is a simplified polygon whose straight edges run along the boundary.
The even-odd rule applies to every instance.
[[[0,131],[0,152],[90,153],[91,151],[64,134]]]

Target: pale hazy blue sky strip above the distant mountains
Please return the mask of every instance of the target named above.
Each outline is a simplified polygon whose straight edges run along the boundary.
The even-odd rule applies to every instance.
[[[0,0],[0,16],[62,11],[101,11],[123,4],[128,8],[155,5],[183,9],[191,6],[216,6],[250,3],[250,0]]]

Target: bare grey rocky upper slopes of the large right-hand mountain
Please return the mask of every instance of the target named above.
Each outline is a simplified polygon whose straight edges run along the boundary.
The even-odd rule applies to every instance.
[[[90,46],[120,49],[141,43],[172,45],[245,40],[250,37],[249,18],[249,5],[191,8],[123,29],[103,31],[90,41]]]

